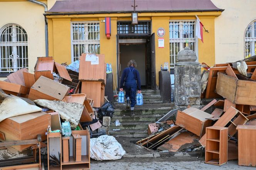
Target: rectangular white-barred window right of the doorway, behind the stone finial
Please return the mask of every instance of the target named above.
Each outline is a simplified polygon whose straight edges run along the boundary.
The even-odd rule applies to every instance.
[[[170,68],[174,68],[178,53],[188,46],[196,51],[195,20],[172,20],[169,22]]]

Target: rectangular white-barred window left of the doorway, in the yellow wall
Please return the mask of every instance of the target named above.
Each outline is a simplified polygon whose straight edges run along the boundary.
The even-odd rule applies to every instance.
[[[72,62],[79,60],[82,53],[100,53],[99,22],[71,23]]]

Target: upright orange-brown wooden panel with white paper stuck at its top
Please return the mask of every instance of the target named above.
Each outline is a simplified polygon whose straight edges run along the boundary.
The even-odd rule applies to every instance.
[[[91,62],[86,61],[86,55],[82,53],[80,57],[79,80],[99,80],[106,82],[105,55],[96,54],[99,57],[99,64],[96,65],[91,65]],[[88,94],[86,93],[86,95]]]

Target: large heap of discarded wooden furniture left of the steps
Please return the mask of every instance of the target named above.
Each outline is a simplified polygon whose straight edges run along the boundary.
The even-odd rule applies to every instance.
[[[93,107],[104,104],[104,55],[82,54],[80,65],[74,62],[67,68],[52,57],[38,57],[34,69],[33,74],[22,68],[0,81],[0,150],[15,150],[14,157],[20,157],[21,151],[33,149],[34,156],[10,162],[0,155],[0,167],[34,163],[40,168],[40,148],[47,147],[48,168],[68,168],[76,162],[89,168],[89,140],[102,126]],[[100,134],[106,133],[101,130]]]

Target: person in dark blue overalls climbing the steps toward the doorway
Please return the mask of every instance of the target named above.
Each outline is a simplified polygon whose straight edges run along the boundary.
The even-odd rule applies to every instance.
[[[123,83],[125,82],[125,98],[127,101],[126,108],[131,106],[131,116],[134,116],[134,107],[136,103],[136,91],[141,93],[140,73],[135,69],[137,67],[135,60],[128,62],[128,67],[123,70],[123,75],[120,82],[120,92],[123,91]],[[131,103],[131,104],[130,104]]]

